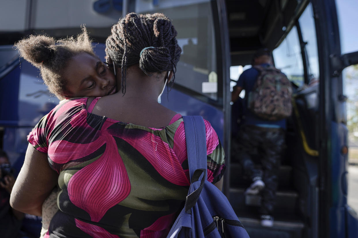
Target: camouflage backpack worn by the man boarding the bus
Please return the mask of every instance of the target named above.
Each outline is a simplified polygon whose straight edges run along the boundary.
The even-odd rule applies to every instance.
[[[248,95],[247,106],[258,117],[277,121],[289,117],[292,111],[291,82],[273,66],[254,66],[259,75]]]

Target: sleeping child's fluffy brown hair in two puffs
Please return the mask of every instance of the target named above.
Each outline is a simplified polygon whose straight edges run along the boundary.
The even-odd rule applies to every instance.
[[[68,37],[55,40],[49,36],[31,35],[17,42],[15,47],[21,57],[40,69],[40,75],[48,89],[59,98],[67,90],[63,72],[69,60],[83,52],[97,57],[85,27],[82,27],[82,33],[76,39]]]

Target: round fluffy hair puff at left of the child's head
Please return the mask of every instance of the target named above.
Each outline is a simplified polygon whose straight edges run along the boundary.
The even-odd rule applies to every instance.
[[[15,44],[19,54],[34,66],[46,65],[54,55],[55,39],[44,35],[31,35]]]

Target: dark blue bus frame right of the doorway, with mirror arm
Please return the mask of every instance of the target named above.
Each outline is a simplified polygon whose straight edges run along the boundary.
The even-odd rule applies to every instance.
[[[357,214],[347,205],[347,118],[342,70],[358,52],[341,55],[334,0],[312,0],[319,55],[319,209],[321,237],[357,237]],[[327,228],[328,227],[328,228]]]

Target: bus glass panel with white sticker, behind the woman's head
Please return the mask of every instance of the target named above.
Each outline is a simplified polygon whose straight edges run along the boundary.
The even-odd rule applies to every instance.
[[[215,32],[210,1],[167,0],[158,6],[151,1],[136,2],[137,12],[163,12],[178,32],[182,48],[176,66],[175,83],[218,100]]]

